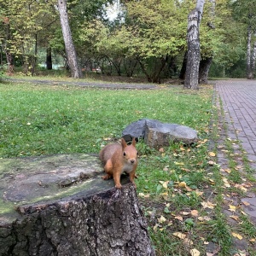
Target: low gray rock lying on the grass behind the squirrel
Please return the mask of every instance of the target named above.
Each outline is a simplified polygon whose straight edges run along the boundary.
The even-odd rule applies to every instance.
[[[197,141],[197,131],[188,126],[161,123],[154,119],[140,119],[122,132],[126,141],[132,137],[143,138],[151,148],[168,146],[170,142],[191,144]]]

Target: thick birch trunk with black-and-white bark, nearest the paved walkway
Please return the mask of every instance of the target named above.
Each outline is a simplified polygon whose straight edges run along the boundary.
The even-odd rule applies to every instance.
[[[188,60],[185,74],[184,88],[198,89],[200,65],[200,38],[199,27],[205,0],[197,0],[195,9],[189,13],[188,19]]]

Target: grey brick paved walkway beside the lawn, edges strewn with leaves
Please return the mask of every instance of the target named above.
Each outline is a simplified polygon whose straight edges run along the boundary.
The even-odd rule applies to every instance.
[[[226,136],[231,140],[240,141],[241,147],[247,152],[249,166],[253,170],[253,176],[256,177],[256,81],[245,79],[234,79],[226,81],[217,81],[215,86],[217,97],[217,107],[222,103],[224,116],[220,114],[222,125],[227,127],[225,131],[219,131],[220,144],[224,143]],[[219,126],[221,127],[221,125]],[[241,154],[239,144],[232,143],[234,153]],[[223,150],[218,150],[218,163],[221,168],[229,167],[229,160]],[[242,159],[237,156],[236,163],[243,165]],[[248,190],[241,202],[248,203],[243,205],[236,197],[226,197],[226,201],[235,206],[241,205],[241,209],[247,212],[251,221],[256,224],[256,193]],[[230,212],[228,211],[228,214]],[[228,215],[229,216],[229,215]],[[229,218],[228,218],[229,219]]]

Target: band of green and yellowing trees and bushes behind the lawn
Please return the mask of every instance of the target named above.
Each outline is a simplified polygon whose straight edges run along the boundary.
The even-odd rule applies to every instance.
[[[192,65],[189,38],[193,41],[198,32],[198,41],[191,41],[199,50],[198,83],[207,83],[209,70],[216,76],[254,78],[256,0],[197,0],[196,6],[190,0],[124,0],[109,20],[106,11],[114,2],[0,0],[1,66],[7,65],[9,74],[21,66],[34,75],[38,49],[44,49],[48,69],[55,53],[75,78],[81,70],[97,69],[143,75],[154,83],[186,79]],[[198,31],[195,23],[189,25],[193,14],[190,21],[197,19]]]

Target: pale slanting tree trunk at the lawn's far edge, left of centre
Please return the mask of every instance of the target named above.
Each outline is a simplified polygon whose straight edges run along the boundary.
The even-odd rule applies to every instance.
[[[65,49],[67,54],[68,66],[71,70],[71,75],[74,79],[79,79],[82,77],[82,72],[78,64],[77,54],[73,45],[73,38],[70,31],[70,26],[67,16],[67,0],[58,0],[58,7],[61,19],[61,29],[63,34],[63,39],[65,43]]]

